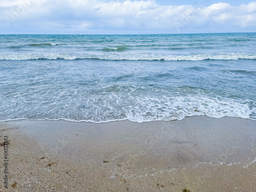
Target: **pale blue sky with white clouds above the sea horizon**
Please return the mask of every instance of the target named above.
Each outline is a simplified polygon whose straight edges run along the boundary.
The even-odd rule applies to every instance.
[[[256,32],[247,0],[0,0],[1,34]]]

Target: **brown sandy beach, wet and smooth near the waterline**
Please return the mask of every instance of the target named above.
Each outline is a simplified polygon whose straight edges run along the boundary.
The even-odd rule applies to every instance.
[[[0,123],[0,191],[255,191],[256,121]],[[2,146],[3,145],[3,146]]]

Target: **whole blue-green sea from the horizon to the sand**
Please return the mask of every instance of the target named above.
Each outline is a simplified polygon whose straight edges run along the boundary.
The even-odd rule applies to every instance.
[[[0,121],[256,120],[256,33],[0,35]]]

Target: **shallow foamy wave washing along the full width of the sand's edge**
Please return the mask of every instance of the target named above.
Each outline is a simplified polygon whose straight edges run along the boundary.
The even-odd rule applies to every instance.
[[[116,89],[116,88],[114,88]],[[110,90],[113,93],[113,90]],[[97,98],[96,98],[97,99]],[[117,99],[119,104],[110,105],[109,100]],[[84,109],[84,106],[78,106],[75,109],[80,108],[79,113],[72,106],[67,106],[67,109],[56,110],[56,112],[62,111],[61,114],[53,114],[52,110],[38,113],[40,106],[36,106],[36,109],[27,109],[28,113],[19,117],[9,114],[6,118],[0,121],[10,121],[17,119],[27,120],[67,120],[75,122],[110,122],[130,120],[138,123],[150,122],[150,121],[172,121],[182,120],[185,117],[191,116],[208,116],[214,118],[222,117],[239,117],[243,119],[256,120],[255,102],[251,100],[231,100],[218,98],[205,98],[205,97],[165,97],[156,98],[145,96],[134,97],[134,105],[123,106],[126,100],[122,100],[119,97],[112,97],[105,99],[103,103],[91,103],[90,107]],[[253,104],[254,103],[254,104]],[[122,105],[118,109],[118,106]],[[249,106],[250,105],[250,106]],[[22,111],[18,109],[16,111]],[[74,111],[75,110],[75,111]],[[23,111],[24,112],[24,111]],[[6,114],[8,114],[7,112]],[[32,115],[31,115],[32,114]],[[78,115],[79,114],[79,115]]]

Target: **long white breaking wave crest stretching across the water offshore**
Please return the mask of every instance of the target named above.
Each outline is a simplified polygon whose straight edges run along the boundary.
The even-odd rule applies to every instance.
[[[165,61],[199,61],[199,60],[239,60],[256,59],[256,55],[247,54],[198,54],[198,55],[161,55],[152,53],[126,54],[9,54],[0,55],[0,60],[34,60],[34,59],[100,59],[100,60],[165,60]]]

